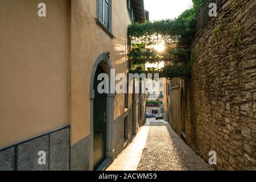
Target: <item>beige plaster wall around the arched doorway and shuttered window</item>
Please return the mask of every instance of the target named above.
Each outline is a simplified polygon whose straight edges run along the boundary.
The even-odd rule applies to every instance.
[[[127,73],[127,26],[130,23],[126,0],[112,1],[111,39],[96,24],[96,1],[71,2],[71,142],[90,133],[90,79],[93,63],[102,52],[110,52],[115,74]],[[124,94],[115,96],[114,119],[125,111]],[[131,97],[130,97],[131,105]]]

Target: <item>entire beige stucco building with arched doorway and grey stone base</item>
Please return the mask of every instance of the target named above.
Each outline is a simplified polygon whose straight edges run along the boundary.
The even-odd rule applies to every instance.
[[[131,94],[97,93],[97,75],[128,73],[143,0],[3,0],[0,17],[0,169],[105,169],[138,120]]]

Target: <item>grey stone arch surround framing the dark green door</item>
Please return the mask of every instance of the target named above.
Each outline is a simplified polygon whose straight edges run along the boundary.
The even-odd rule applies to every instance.
[[[101,72],[106,73],[109,76],[109,81],[111,80],[110,77],[112,76],[111,69],[112,65],[110,63],[110,56],[108,53],[101,53],[97,56],[96,60],[94,61],[93,68],[92,68],[92,74],[91,74],[91,80],[90,80],[90,170],[98,169],[102,170],[105,167],[108,167],[109,164],[113,161],[113,152],[114,152],[114,97],[115,93],[107,93],[105,94],[106,98],[106,114],[105,114],[105,120],[106,120],[106,139],[105,139],[105,160],[102,160],[101,164],[98,164],[94,168],[94,113],[96,110],[94,109],[94,98],[97,97],[97,90],[95,90],[95,84],[94,80],[97,80],[97,71],[98,69],[101,69]],[[112,76],[113,77],[113,76]],[[111,82],[111,81],[110,81]],[[109,83],[110,84],[110,83]],[[110,88],[110,86],[109,86]],[[111,88],[110,88],[111,89]]]

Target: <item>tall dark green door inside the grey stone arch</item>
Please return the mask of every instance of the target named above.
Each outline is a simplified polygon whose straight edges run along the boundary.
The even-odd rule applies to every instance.
[[[98,66],[94,77],[93,100],[93,168],[97,169],[106,159],[106,94],[98,93],[97,80],[103,69]]]

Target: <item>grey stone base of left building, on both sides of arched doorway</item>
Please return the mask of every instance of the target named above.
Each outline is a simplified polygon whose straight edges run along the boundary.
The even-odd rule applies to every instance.
[[[131,142],[132,111],[127,110],[114,121],[114,158]],[[127,139],[124,138],[125,117],[128,117],[129,121]],[[144,123],[143,119],[141,123]],[[69,138],[70,129],[65,127],[1,150],[0,171],[89,171],[92,147],[90,137],[80,140],[73,146],[70,146]],[[46,152],[45,165],[38,163],[39,151]]]

